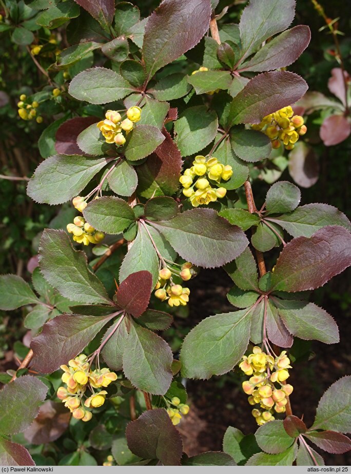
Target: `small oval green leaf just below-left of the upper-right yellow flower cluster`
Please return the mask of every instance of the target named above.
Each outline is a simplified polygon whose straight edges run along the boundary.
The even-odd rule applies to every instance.
[[[241,160],[251,163],[267,158],[272,151],[269,137],[258,130],[235,130],[231,133],[230,143]]]

